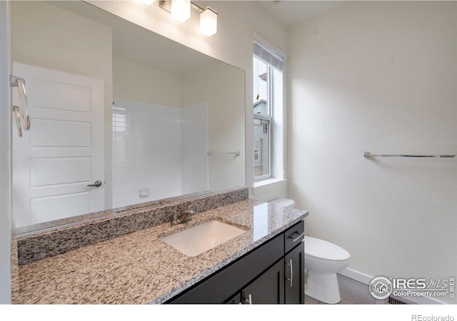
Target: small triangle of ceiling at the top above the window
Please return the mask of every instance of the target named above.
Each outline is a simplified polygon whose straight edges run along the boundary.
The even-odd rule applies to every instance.
[[[270,0],[257,2],[284,26],[291,27],[346,1]]]

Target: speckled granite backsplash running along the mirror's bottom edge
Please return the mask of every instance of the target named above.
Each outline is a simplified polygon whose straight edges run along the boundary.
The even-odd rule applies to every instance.
[[[93,218],[77,225],[64,225],[61,228],[44,230],[36,235],[16,237],[19,265],[163,224],[170,219],[169,210],[183,211],[194,204],[196,213],[200,213],[247,198],[248,188],[226,190],[211,195],[176,200],[165,205],[154,205],[151,208],[134,209],[103,218]]]

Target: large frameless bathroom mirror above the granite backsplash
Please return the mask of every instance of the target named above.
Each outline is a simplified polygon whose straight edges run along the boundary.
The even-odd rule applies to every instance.
[[[14,234],[245,185],[243,70],[84,1],[12,1],[11,22]]]

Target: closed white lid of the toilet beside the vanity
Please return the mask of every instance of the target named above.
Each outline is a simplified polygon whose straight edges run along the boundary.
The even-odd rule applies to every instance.
[[[344,261],[351,257],[348,251],[338,245],[310,236],[305,236],[305,255],[332,261]]]

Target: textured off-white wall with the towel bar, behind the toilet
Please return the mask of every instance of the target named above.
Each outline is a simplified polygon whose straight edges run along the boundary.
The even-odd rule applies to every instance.
[[[353,1],[290,30],[290,196],[366,275],[456,275],[457,3]],[[449,298],[445,302],[453,302]]]

